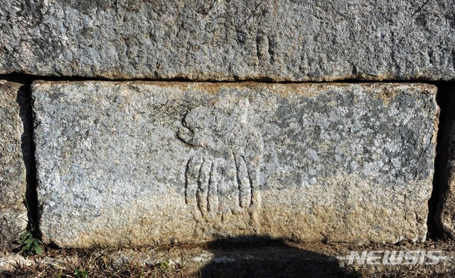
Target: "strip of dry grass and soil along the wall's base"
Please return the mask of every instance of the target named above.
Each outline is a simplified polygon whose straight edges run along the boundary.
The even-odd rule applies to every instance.
[[[351,251],[441,251],[437,264],[348,264]],[[349,245],[220,240],[137,250],[62,250],[0,256],[1,277],[454,277],[455,242]]]

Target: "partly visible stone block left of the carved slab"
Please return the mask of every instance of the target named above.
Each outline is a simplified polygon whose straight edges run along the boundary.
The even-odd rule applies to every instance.
[[[22,144],[25,96],[21,84],[0,80],[0,247],[9,245],[27,225],[26,165]],[[21,108],[22,107],[22,108]]]

